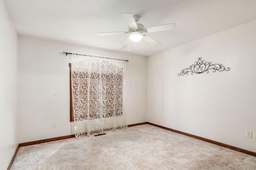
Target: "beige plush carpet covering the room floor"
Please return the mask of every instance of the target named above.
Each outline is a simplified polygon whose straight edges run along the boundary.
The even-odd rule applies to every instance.
[[[20,147],[11,170],[256,170],[256,157],[140,125]]]

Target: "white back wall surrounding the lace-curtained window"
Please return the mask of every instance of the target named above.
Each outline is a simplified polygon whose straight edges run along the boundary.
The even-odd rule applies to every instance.
[[[128,59],[126,105],[129,124],[146,121],[146,57],[19,37],[19,142],[73,133],[69,122],[69,57],[60,52]],[[138,117],[134,117],[134,113]],[[52,123],[57,123],[57,128]]]

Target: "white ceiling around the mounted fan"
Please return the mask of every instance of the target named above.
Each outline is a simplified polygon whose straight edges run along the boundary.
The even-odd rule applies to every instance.
[[[128,52],[122,13],[141,16],[145,27],[176,23],[175,30],[146,33],[160,41],[130,43],[130,53],[149,56],[256,20],[256,0],[4,0],[18,34]],[[69,51],[76,53],[76,51]]]

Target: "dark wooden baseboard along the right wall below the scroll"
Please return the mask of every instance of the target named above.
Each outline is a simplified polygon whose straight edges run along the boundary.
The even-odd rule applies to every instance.
[[[189,137],[193,137],[193,138],[196,138],[196,139],[199,139],[199,140],[202,140],[202,141],[206,141],[206,142],[209,142],[209,143],[213,143],[215,145],[219,145],[219,146],[222,146],[222,147],[225,147],[225,148],[229,148],[229,149],[232,149],[232,150],[236,150],[236,151],[239,151],[239,152],[243,152],[243,153],[246,153],[246,154],[250,154],[252,156],[256,156],[256,152],[252,152],[250,150],[246,150],[246,149],[242,149],[242,148],[238,148],[238,147],[234,147],[234,146],[231,146],[231,145],[228,145],[228,144],[225,144],[225,143],[220,143],[220,142],[217,142],[217,141],[213,141],[211,139],[206,139],[204,137],[199,137],[199,136],[196,136],[196,135],[192,135],[190,133],[185,133],[185,132],[182,132],[182,131],[177,131],[175,129],[171,129],[171,128],[168,128],[168,127],[164,127],[164,126],[160,126],[160,125],[156,125],[154,123],[149,123],[149,125],[153,125],[153,126],[156,126],[156,127],[160,127],[162,129],[166,129],[166,130],[169,130],[169,131],[173,131],[173,132],[176,132],[176,133],[180,133],[182,135],[186,135],[186,136],[189,136]]]

